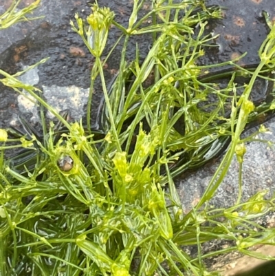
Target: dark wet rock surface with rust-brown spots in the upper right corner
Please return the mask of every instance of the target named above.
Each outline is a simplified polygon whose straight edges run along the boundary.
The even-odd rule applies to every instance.
[[[204,62],[221,63],[247,53],[240,65],[259,63],[258,50],[270,32],[263,12],[275,20],[274,2],[270,0],[208,0],[209,5],[223,7],[223,19],[211,21],[208,31],[219,34],[214,41],[217,47],[208,48]]]

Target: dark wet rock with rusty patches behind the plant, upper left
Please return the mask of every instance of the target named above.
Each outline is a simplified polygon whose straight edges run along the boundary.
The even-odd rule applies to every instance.
[[[32,65],[41,59],[50,57],[50,59],[39,66],[39,83],[38,87],[44,85],[45,87],[68,87],[75,85],[87,89],[90,82],[91,67],[94,65],[94,58],[91,56],[87,47],[80,39],[78,34],[72,31],[69,24],[70,20],[74,20],[76,12],[84,19],[91,12],[91,3],[94,1],[41,1],[41,6],[37,8],[32,17],[41,17],[35,21],[19,23],[5,32],[1,32],[0,40],[0,68],[14,74],[22,70],[25,65]],[[125,1],[102,1],[102,6],[110,6],[115,11],[115,19],[126,26],[131,14],[131,3]],[[116,28],[111,28],[107,49],[102,56],[106,56],[107,52],[113,46],[115,41],[121,35],[121,32]],[[140,41],[141,59],[148,51],[150,41],[144,41],[144,37],[131,39],[129,43],[128,59],[133,61],[135,59],[135,43]],[[113,52],[113,55],[107,61],[107,69],[105,75],[107,82],[117,72],[120,63],[120,53],[122,44]],[[55,93],[56,89],[53,89]],[[14,92],[8,92],[14,95]],[[0,100],[3,94],[0,95]],[[5,96],[6,97],[6,96]],[[16,96],[13,96],[16,98]],[[49,96],[50,97],[50,96]],[[98,107],[102,91],[100,85],[96,86],[94,91],[94,110]],[[17,105],[16,100],[12,98],[12,103]],[[2,102],[7,102],[3,99]],[[62,104],[62,103],[61,103]],[[87,101],[83,102],[81,107],[85,107]],[[5,105],[5,108],[8,108]],[[85,110],[85,109],[83,109]],[[80,111],[83,114],[84,111]],[[8,121],[12,114],[5,113],[6,118],[3,120]],[[94,113],[96,116],[96,112]],[[75,118],[79,119],[79,116]],[[5,125],[5,124],[4,124]]]

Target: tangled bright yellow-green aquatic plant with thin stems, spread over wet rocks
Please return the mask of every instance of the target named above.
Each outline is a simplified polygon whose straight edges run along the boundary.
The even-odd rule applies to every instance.
[[[11,76],[0,70],[1,83],[38,100],[43,127],[41,137],[23,120],[25,136],[0,129],[0,275],[218,275],[207,271],[208,257],[240,251],[272,259],[249,248],[274,244],[274,229],[254,220],[274,211],[274,198],[266,200],[261,192],[242,202],[240,178],[234,206],[211,209],[206,203],[234,154],[241,171],[248,140],[242,140],[243,130],[274,109],[273,89],[258,105],[250,92],[256,78],[274,81],[275,26],[265,14],[270,34],[253,70],[236,61],[199,65],[203,49],[214,39],[205,34],[207,21],[219,19],[220,8],[197,0],[157,0],[140,19],[143,3],[133,1],[127,28],[97,4],[87,20],[76,14],[71,22],[95,57],[87,126],[68,123],[38,89],[18,81],[23,72]],[[1,18],[14,18],[11,12],[0,17],[0,25]],[[144,25],[147,19],[153,22],[149,26]],[[123,49],[118,75],[107,85],[101,56],[111,25],[121,31]],[[153,44],[146,58],[140,61],[137,46],[135,61],[127,63],[129,40],[147,33]],[[230,69],[221,87],[221,75],[209,77],[208,71],[224,66]],[[239,76],[248,82],[238,85]],[[104,100],[93,129],[96,78]],[[59,120],[56,125],[47,126],[45,109]],[[201,200],[184,213],[173,179],[226,147]],[[8,158],[8,149],[15,148],[23,150]],[[232,245],[203,252],[202,244],[214,240]],[[195,246],[197,253],[189,255],[186,246]]]

